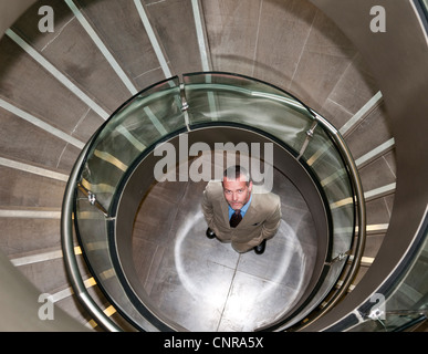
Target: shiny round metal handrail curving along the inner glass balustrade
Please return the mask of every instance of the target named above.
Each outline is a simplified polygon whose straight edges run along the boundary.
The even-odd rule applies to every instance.
[[[206,73],[206,74],[212,75],[212,74],[216,74],[216,73],[211,72],[211,73]],[[220,74],[228,74],[228,73],[220,73]],[[228,74],[228,75],[232,75],[233,76],[233,74]],[[250,79],[250,80],[253,80],[251,77],[247,77],[247,76],[243,76],[243,75],[236,75],[236,76],[239,76],[239,79],[247,79],[247,80]],[[176,80],[175,77],[173,77],[171,81]],[[168,83],[168,81],[169,80],[166,80],[165,83]],[[258,81],[258,84],[260,84],[260,83],[262,83],[262,82]],[[263,84],[265,84],[265,83],[263,83]],[[271,87],[274,88],[274,90],[283,92],[282,90],[276,88],[276,87],[274,87],[272,85],[271,85]],[[175,86],[175,90],[176,88],[177,88],[177,86]],[[238,91],[240,91],[240,90],[241,88],[238,88]],[[286,94],[290,97],[294,98],[294,96],[290,95],[286,92],[284,92],[284,94]],[[136,98],[137,96],[138,96],[138,94],[135,95],[134,98]],[[271,93],[267,93],[263,96],[265,98],[271,98],[271,100],[273,97],[274,100],[282,101],[283,103],[284,103],[284,100],[286,101],[286,97],[281,97],[281,96],[278,96],[278,95],[271,94]],[[366,221],[365,220],[365,202],[364,202],[364,194],[363,194],[363,189],[362,189],[362,185],[361,185],[361,181],[359,181],[359,177],[358,177],[358,174],[357,174],[356,166],[355,166],[355,164],[353,162],[353,158],[352,158],[352,155],[351,155],[349,150],[346,147],[345,142],[343,140],[343,138],[341,137],[338,132],[333,126],[331,126],[319,114],[316,114],[315,112],[313,112],[312,110],[306,107],[297,98],[295,98],[295,100],[296,100],[296,102],[299,104],[301,104],[301,106],[299,108],[301,108],[302,111],[306,110],[306,113],[309,112],[309,114],[316,122],[319,122],[324,127],[324,129],[326,129],[330,133],[331,137],[333,137],[335,146],[336,146],[336,148],[338,148],[340,155],[342,156],[342,158],[346,163],[347,168],[348,168],[348,173],[352,176],[352,180],[351,181],[352,181],[352,186],[355,189],[355,197],[356,197],[357,206],[358,206],[358,223],[359,223],[358,237],[357,237],[358,242],[357,242],[357,244],[355,247],[355,250],[354,250],[355,254],[354,254],[354,258],[353,258],[352,267],[347,271],[347,274],[345,277],[345,281],[340,287],[340,290],[335,293],[333,299],[328,302],[327,306],[325,306],[323,309],[322,313],[320,313],[319,316],[321,316],[326,311],[328,311],[332,306],[334,306],[335,303],[345,294],[346,290],[348,289],[351,282],[355,278],[356,272],[357,272],[357,270],[359,268],[359,262],[361,262],[362,253],[363,253],[363,250],[364,250],[364,243],[365,243],[365,221]],[[127,103],[129,103],[129,102],[132,102],[132,100],[129,100]],[[288,102],[288,104],[290,104],[290,102]],[[124,104],[123,107],[126,107],[126,105]],[[122,114],[123,112],[121,112],[121,110],[117,110],[116,113],[121,113]],[[114,116],[115,116],[115,114],[112,115],[112,117],[107,122],[111,122],[111,119]],[[103,125],[103,128],[105,128],[107,126],[107,122],[106,122],[106,124]],[[189,129],[189,125],[187,123],[186,123],[186,126]],[[77,269],[77,266],[76,266],[76,262],[75,262],[74,250],[73,250],[73,238],[72,238],[73,233],[72,233],[72,221],[71,220],[72,220],[73,212],[72,212],[72,207],[71,206],[72,206],[72,200],[73,200],[76,183],[77,183],[77,179],[79,179],[79,174],[82,173],[83,165],[87,162],[88,152],[94,147],[95,137],[98,137],[100,133],[101,133],[101,131],[98,131],[94,135],[94,137],[91,139],[91,142],[88,142],[86,144],[84,150],[81,153],[81,155],[80,155],[80,157],[79,157],[79,159],[77,159],[77,162],[76,162],[76,164],[75,164],[75,166],[73,168],[73,171],[71,174],[71,177],[70,177],[70,180],[69,180],[69,184],[67,184],[67,188],[66,188],[66,191],[65,191],[65,195],[64,195],[64,200],[63,200],[62,240],[63,240],[63,250],[64,250],[64,259],[65,259],[65,263],[66,263],[66,269],[67,269],[69,274],[71,277],[71,282],[72,282],[73,289],[76,292],[76,295],[80,298],[80,300],[84,303],[84,305],[87,308],[87,310],[100,321],[100,323],[104,327],[106,327],[108,331],[117,331],[119,329],[115,324],[113,324],[111,322],[111,320],[96,306],[96,304],[88,296],[88,294],[87,294],[87,292],[85,290],[85,287],[83,284],[82,278],[79,274],[79,269]],[[93,150],[92,150],[92,153],[93,153]],[[354,231],[353,231],[353,235],[355,235]],[[313,319],[313,321],[319,319],[319,316]],[[313,321],[311,321],[311,322],[313,322]]]

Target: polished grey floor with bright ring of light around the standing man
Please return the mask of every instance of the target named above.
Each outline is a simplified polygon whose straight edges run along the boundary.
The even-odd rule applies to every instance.
[[[157,183],[143,200],[133,235],[134,263],[153,303],[189,331],[253,331],[285,313],[311,278],[316,240],[307,206],[274,173],[282,221],[261,256],[237,253],[205,236],[206,181]]]

